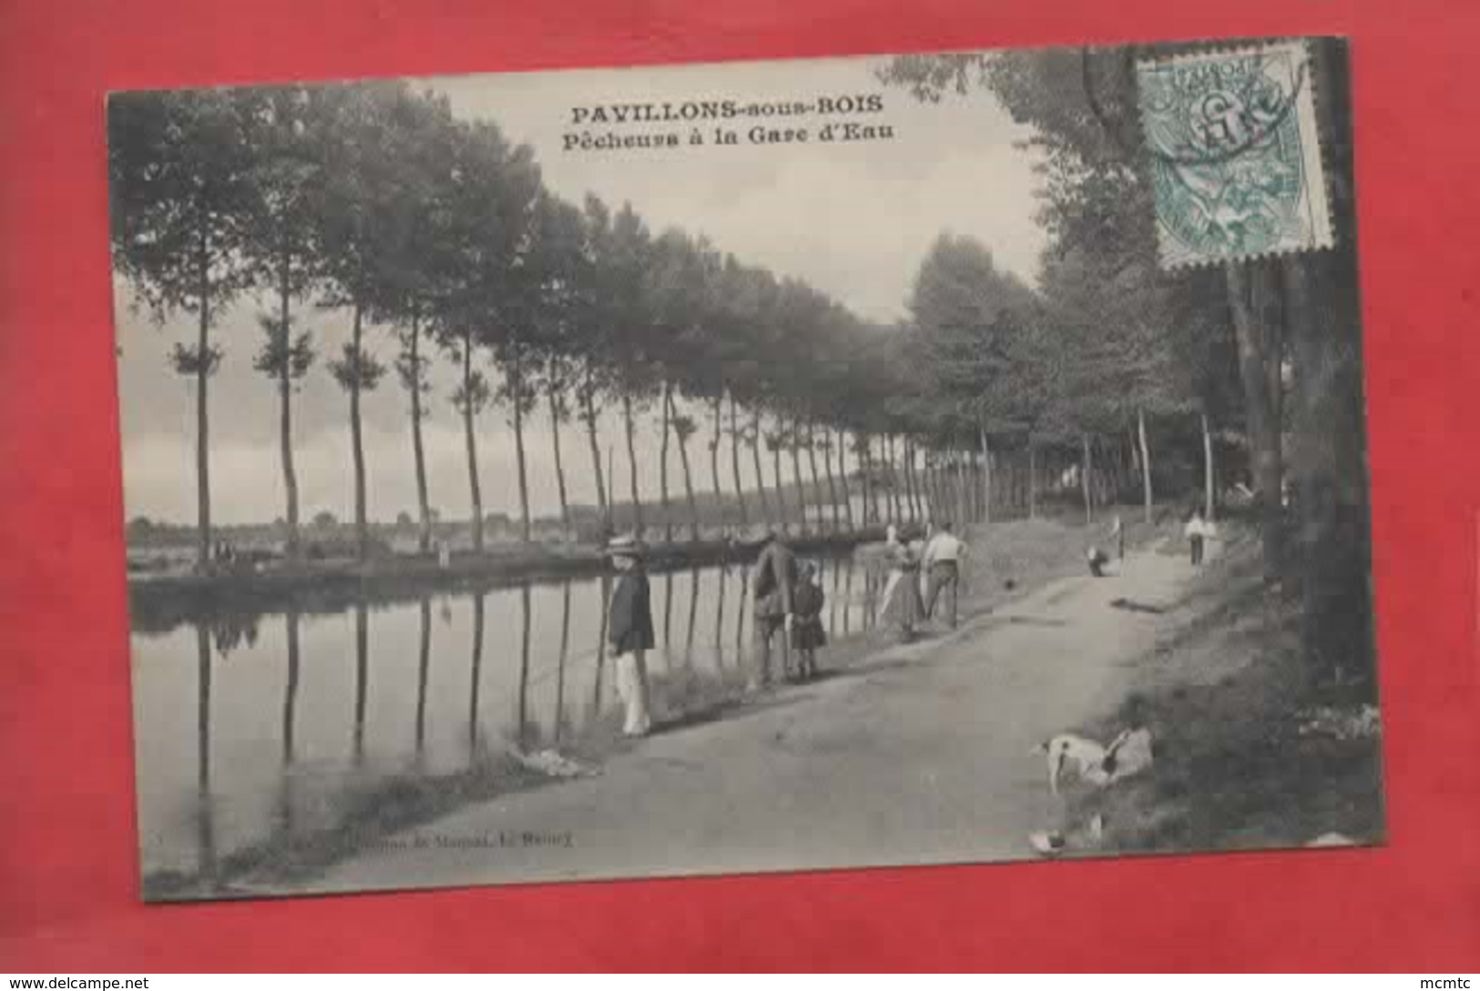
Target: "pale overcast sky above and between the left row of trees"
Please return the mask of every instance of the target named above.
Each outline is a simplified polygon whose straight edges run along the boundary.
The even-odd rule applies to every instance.
[[[496,121],[511,139],[534,146],[546,185],[579,203],[595,192],[610,204],[630,201],[654,232],[681,226],[706,234],[725,251],[764,265],[777,275],[805,278],[857,314],[881,321],[903,315],[921,259],[943,232],[984,243],[998,263],[1033,280],[1045,235],[1033,222],[1037,177],[1035,158],[1014,146],[1027,136],[986,92],[947,96],[938,105],[915,102],[904,90],[873,78],[876,59],[750,62],[673,68],[528,72],[417,80],[450,96],[460,117]],[[749,118],[730,126],[740,145],[684,145],[676,149],[564,151],[564,136],[673,130],[685,126],[571,123],[571,108],[626,102],[681,104],[733,98],[815,101],[882,93],[884,111],[836,120],[887,124],[892,141],[848,143],[752,145]],[[823,118],[774,118],[778,127],[807,127]],[[713,124],[704,124],[706,138]],[[117,291],[118,362],[123,402],[124,500],[127,513],[191,522],[195,515],[194,386],[175,376],[166,355],[176,340],[191,340],[189,319],[160,328],[133,312],[132,294]],[[268,521],[283,515],[272,385],[252,371],[260,330],[259,305],[247,302],[225,315],[216,340],[226,351],[212,380],[212,490],[219,522]],[[300,324],[314,331],[320,355],[337,352],[348,337],[348,314],[306,311]],[[371,349],[389,364],[386,330],[371,330]],[[447,402],[450,374],[438,362],[432,417],[426,425],[431,500],[444,516],[468,512],[468,470],[456,414]],[[296,451],[305,519],[320,509],[340,518],[352,504],[348,401],[323,364],[303,380],[296,398]],[[388,377],[364,401],[370,515],[394,518],[414,510],[406,398]],[[514,441],[503,413],[482,416],[480,439],[485,512],[517,512]],[[656,495],[657,429],[639,436],[642,485]],[[583,436],[562,435],[574,501],[595,501],[589,450]],[[703,432],[691,442],[696,484],[709,488]],[[604,442],[617,447],[616,429]],[[554,512],[555,478],[548,420],[536,413],[527,438],[530,488],[537,513]],[[678,482],[678,456],[670,478]],[[730,484],[728,472],[724,475]],[[750,479],[747,478],[747,485]],[[626,488],[623,485],[622,491]]]

